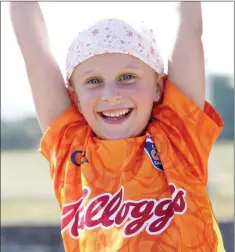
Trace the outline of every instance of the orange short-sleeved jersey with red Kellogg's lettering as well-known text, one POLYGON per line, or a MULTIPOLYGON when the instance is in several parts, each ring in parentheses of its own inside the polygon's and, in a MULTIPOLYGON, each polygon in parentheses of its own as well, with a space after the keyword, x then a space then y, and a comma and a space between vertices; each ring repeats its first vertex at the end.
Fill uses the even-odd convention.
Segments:
POLYGON ((207 195, 223 128, 169 81, 143 136, 102 140, 68 108, 41 141, 67 252, 223 252, 207 195))

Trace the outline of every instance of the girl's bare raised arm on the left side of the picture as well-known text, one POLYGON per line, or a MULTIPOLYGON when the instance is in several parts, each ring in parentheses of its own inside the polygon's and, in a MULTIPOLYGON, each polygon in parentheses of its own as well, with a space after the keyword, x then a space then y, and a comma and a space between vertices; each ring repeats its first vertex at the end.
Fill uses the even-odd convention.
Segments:
POLYGON ((24 58, 41 130, 45 130, 70 100, 63 76, 51 54, 47 28, 37 2, 11 2, 13 29, 24 58))

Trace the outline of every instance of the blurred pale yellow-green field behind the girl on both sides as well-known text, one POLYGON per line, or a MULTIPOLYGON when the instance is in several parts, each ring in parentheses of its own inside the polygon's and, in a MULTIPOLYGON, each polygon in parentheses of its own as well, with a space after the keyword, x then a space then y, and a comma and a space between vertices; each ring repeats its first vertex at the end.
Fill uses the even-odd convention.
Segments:
MULTIPOLYGON (((49 165, 37 150, 6 151, 1 156, 1 221, 10 224, 58 224, 49 165)), ((209 161, 209 187, 218 220, 234 215, 233 142, 218 143, 209 161)))

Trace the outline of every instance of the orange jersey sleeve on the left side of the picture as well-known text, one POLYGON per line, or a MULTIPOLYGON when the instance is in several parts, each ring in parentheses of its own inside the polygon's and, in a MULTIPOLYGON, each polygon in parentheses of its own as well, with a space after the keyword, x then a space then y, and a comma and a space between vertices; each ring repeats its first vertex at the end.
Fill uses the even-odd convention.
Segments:
MULTIPOLYGON (((39 152, 45 156, 50 164, 53 180, 63 178, 63 167, 68 159, 71 145, 76 138, 85 138, 87 128, 84 117, 74 106, 66 109, 46 130, 41 142, 39 152), (84 136, 82 135, 84 133, 84 136)), ((83 139, 80 139, 80 143, 83 139)))

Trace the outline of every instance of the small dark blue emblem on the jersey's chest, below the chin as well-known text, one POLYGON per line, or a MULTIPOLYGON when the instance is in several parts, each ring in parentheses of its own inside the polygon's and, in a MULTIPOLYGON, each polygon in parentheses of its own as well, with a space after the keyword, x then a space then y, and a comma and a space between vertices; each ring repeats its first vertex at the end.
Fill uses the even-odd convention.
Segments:
POLYGON ((159 159, 159 155, 158 155, 156 146, 155 146, 155 144, 149 134, 147 135, 147 138, 146 138, 144 150, 145 150, 146 154, 149 156, 153 166, 160 171, 164 171, 163 166, 162 166, 162 162, 159 159))

